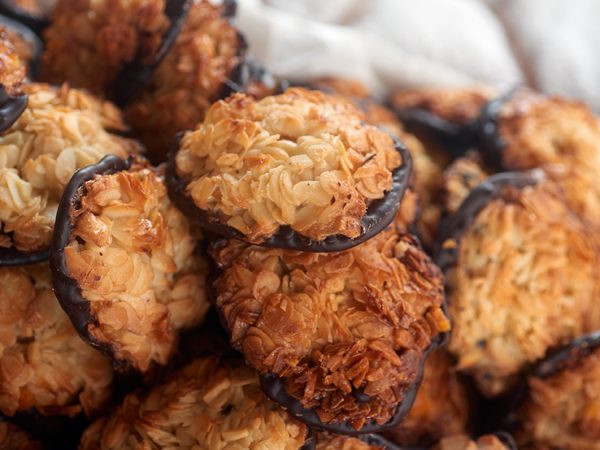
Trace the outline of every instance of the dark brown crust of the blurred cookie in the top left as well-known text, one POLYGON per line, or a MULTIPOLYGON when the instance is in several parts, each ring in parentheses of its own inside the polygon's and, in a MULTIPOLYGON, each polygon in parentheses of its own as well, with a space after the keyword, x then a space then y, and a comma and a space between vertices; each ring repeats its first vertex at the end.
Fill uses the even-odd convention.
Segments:
POLYGON ((149 63, 169 27, 165 0, 59 0, 45 30, 42 79, 106 94, 123 66, 149 63))

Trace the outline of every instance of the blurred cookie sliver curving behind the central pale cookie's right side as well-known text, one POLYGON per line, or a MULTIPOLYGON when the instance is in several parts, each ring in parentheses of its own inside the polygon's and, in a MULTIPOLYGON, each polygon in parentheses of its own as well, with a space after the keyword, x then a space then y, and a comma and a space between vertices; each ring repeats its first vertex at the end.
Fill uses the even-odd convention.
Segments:
MULTIPOLYGON (((350 100, 363 111, 367 123, 384 129, 406 145, 413 160, 411 186, 413 202, 417 207, 415 225, 423 244, 431 247, 441 217, 439 196, 442 187, 442 166, 439 162, 432 158, 428 148, 416 136, 404 129, 391 110, 371 96, 362 83, 340 78, 320 78, 310 80, 306 84, 308 87, 350 100)), ((405 217, 399 219, 401 222, 406 221, 405 217)))

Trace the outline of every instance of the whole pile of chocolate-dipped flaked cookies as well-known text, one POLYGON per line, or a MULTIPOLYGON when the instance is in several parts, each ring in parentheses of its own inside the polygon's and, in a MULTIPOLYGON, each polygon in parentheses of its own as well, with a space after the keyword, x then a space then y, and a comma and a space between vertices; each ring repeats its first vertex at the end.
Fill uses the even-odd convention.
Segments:
POLYGON ((0 448, 600 449, 600 121, 279 80, 235 4, 5 1, 0 448))

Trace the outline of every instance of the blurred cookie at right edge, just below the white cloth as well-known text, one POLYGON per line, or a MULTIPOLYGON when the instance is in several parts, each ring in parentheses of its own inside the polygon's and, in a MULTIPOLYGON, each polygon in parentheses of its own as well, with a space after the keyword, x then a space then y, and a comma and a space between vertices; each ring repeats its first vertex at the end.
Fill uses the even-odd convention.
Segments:
POLYGON ((528 90, 486 108, 483 155, 503 170, 544 169, 570 208, 600 227, 600 120, 581 102, 528 90))

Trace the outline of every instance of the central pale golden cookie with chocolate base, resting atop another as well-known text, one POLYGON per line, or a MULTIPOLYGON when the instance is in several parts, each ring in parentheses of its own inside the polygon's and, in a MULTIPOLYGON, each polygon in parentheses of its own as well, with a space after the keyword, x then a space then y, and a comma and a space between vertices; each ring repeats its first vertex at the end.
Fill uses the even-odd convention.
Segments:
POLYGON ((408 151, 365 125, 352 104, 291 88, 215 103, 171 154, 169 195, 227 237, 340 251, 393 220, 411 172, 408 151))

